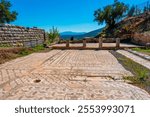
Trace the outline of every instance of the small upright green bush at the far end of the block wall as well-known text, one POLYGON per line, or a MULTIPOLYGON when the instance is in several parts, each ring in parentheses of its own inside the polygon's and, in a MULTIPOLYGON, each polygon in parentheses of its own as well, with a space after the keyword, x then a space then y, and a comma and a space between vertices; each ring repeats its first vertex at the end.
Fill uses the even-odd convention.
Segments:
POLYGON ((49 32, 49 41, 50 42, 54 42, 56 41, 56 39, 59 38, 59 31, 57 28, 55 27, 52 27, 52 29, 50 29, 50 32, 49 32))

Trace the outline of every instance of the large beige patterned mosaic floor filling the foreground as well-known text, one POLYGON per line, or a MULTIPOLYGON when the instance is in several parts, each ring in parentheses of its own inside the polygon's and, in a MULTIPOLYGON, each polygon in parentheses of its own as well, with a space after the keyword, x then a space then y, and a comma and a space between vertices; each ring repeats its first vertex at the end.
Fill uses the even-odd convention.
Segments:
POLYGON ((0 99, 150 99, 107 50, 52 50, 0 65, 0 99))

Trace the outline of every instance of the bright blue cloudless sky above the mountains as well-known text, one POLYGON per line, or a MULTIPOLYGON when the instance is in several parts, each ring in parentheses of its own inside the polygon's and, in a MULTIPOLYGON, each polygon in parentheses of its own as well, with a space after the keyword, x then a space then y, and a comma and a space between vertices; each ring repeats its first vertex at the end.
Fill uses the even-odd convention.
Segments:
MULTIPOLYGON (((52 26, 63 31, 88 32, 101 28, 94 22, 96 9, 112 4, 114 0, 10 0, 19 15, 12 24, 39 27, 52 26)), ((146 0, 120 0, 126 4, 140 4, 146 0)))

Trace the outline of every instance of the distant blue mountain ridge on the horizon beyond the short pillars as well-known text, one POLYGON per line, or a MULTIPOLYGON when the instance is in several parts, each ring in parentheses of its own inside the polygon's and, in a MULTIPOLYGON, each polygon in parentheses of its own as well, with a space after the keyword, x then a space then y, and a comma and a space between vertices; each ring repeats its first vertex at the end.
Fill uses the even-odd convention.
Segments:
POLYGON ((88 33, 84 33, 84 32, 81 32, 81 33, 75 33, 75 32, 63 32, 61 33, 61 38, 62 39, 70 39, 72 36, 75 38, 75 39, 83 39, 84 37, 95 37, 97 36, 101 31, 103 30, 103 28, 100 28, 100 29, 97 29, 97 30, 94 30, 94 31, 91 31, 91 32, 88 32, 88 33))

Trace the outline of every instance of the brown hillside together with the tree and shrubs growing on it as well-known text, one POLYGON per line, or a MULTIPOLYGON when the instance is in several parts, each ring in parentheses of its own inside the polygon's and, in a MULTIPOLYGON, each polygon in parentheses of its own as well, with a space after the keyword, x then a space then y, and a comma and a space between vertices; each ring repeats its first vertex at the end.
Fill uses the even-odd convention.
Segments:
POLYGON ((106 23, 104 30, 96 37, 129 38, 135 32, 150 31, 149 7, 127 6, 115 0, 113 5, 108 5, 103 10, 95 11, 95 21, 99 24, 106 23))

